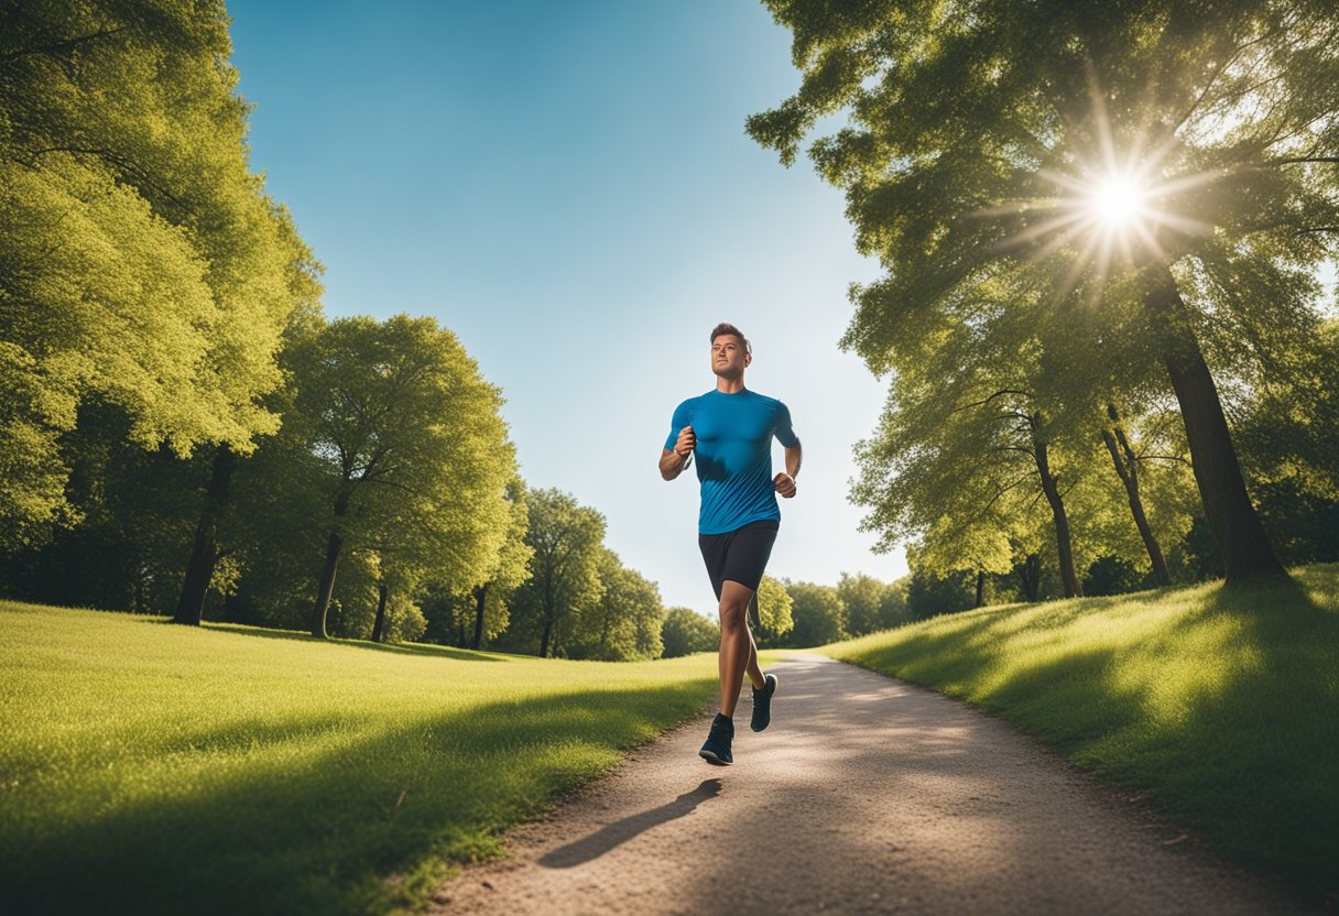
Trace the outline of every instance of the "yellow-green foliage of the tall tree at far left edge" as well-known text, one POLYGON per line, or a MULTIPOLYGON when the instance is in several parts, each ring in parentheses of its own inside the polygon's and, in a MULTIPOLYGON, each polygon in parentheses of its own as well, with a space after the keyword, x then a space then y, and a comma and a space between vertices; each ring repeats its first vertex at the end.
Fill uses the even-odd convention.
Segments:
POLYGON ((0 28, 0 529, 72 520, 79 404, 185 457, 272 433, 261 403, 319 269, 248 165, 221 3, 21 4, 0 28), (300 264, 301 266, 295 266, 300 264))

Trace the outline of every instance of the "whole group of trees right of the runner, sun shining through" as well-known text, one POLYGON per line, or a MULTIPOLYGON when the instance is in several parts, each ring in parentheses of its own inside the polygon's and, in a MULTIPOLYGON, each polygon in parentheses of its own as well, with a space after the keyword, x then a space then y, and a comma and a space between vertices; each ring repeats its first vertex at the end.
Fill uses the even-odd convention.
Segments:
POLYGON ((1322 3, 765 0, 884 276, 853 498, 947 605, 1339 558, 1339 24, 1322 3), (1111 183, 1123 222, 1094 189, 1111 183), (969 597, 968 597, 969 596, 969 597))

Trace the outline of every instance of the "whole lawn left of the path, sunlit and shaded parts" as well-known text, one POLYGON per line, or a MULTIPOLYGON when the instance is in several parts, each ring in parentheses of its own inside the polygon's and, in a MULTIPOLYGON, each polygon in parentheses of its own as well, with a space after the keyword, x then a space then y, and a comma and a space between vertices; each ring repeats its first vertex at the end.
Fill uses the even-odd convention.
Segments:
POLYGON ((0 603, 0 909, 363 913, 714 698, 641 664, 0 603))

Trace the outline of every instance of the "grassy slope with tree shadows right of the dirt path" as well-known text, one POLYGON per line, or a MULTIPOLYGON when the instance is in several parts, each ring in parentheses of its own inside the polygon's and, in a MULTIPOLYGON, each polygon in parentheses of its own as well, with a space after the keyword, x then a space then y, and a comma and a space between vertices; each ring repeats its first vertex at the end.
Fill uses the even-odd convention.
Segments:
POLYGON ((1339 891, 1339 565, 991 607, 825 651, 998 712, 1229 856, 1339 891))

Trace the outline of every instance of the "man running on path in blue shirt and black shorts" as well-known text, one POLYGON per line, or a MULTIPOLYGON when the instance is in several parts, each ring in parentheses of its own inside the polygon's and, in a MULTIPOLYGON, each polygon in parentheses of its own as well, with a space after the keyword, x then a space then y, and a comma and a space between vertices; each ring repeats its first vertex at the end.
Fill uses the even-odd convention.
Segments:
POLYGON ((698 753, 719 766, 734 763, 730 743, 746 672, 754 696, 750 727, 762 731, 771 722, 777 676, 763 676, 758 667, 747 611, 781 525, 775 494, 787 500, 795 495, 801 458, 786 404, 744 387, 744 368, 751 362, 753 348, 739 328, 718 324, 711 332, 716 387, 675 408, 660 455, 660 477, 667 481, 679 477, 694 454, 698 457, 702 485, 698 546, 720 603, 720 712, 698 753), (786 449, 786 471, 775 477, 773 437, 786 449))

